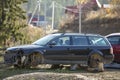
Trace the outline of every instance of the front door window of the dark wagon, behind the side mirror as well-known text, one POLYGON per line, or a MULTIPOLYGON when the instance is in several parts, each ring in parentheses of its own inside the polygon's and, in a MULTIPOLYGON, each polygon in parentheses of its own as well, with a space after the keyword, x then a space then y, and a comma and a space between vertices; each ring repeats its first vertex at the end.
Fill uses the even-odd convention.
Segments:
POLYGON ((60 37, 60 38, 57 38, 55 39, 54 41, 52 41, 56 44, 56 46, 67 46, 67 45, 70 45, 70 37, 60 37))

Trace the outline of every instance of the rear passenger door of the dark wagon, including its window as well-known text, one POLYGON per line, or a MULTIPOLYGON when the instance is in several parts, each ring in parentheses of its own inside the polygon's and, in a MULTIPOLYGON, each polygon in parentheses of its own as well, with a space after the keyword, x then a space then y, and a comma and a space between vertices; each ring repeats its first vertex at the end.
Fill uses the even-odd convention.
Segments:
POLYGON ((88 40, 86 36, 73 36, 70 54, 74 61, 85 61, 89 53, 88 40))

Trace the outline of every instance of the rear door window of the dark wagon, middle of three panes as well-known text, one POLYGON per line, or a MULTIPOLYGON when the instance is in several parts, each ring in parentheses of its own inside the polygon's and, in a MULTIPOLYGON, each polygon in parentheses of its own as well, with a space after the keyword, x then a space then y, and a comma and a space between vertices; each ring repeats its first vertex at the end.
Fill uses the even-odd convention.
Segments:
POLYGON ((73 45, 88 45, 86 36, 74 36, 73 45))

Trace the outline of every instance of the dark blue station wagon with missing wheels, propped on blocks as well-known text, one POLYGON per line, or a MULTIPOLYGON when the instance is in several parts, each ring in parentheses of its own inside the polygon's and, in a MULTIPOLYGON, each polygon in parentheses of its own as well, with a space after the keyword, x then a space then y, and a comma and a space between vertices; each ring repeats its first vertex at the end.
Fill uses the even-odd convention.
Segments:
POLYGON ((85 64, 104 71, 103 65, 112 60, 112 47, 106 38, 80 33, 49 34, 30 45, 10 47, 4 56, 5 64, 17 68, 39 64, 85 64))

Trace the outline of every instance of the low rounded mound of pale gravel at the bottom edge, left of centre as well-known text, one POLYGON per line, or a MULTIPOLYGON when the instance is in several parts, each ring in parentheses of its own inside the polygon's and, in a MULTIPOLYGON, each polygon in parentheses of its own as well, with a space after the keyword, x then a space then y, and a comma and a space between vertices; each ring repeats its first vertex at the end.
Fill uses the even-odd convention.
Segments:
POLYGON ((89 80, 87 77, 75 74, 37 72, 15 75, 3 80, 89 80))

